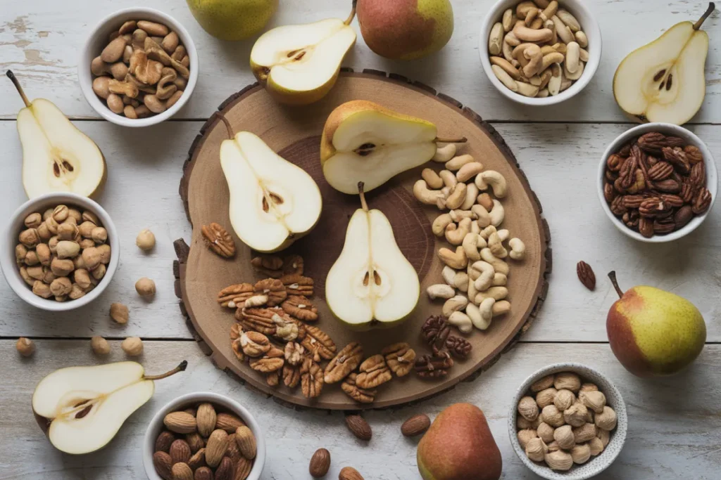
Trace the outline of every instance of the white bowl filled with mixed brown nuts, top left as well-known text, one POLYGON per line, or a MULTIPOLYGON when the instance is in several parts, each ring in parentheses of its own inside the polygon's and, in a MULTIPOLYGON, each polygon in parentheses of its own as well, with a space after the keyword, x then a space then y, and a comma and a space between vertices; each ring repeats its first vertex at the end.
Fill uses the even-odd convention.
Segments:
POLYGON ((89 35, 80 86, 102 117, 145 127, 172 117, 198 81, 198 53, 184 27, 154 9, 120 10, 89 35))

